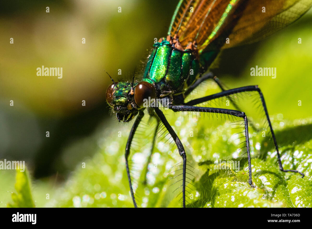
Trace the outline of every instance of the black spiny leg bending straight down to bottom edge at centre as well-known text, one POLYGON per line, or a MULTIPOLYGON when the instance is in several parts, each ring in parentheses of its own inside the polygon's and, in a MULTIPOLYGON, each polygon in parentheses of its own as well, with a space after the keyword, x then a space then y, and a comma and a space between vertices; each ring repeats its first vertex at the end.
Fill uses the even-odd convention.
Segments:
POLYGON ((183 182, 182 182, 182 197, 183 197, 183 208, 185 208, 185 178, 186 178, 186 154, 185 154, 185 150, 184 147, 180 141, 180 139, 178 138, 177 134, 174 132, 174 130, 172 129, 172 127, 170 126, 170 124, 168 123, 167 119, 165 118, 165 116, 163 115, 163 112, 161 110, 159 110, 158 107, 155 107, 155 112, 158 115, 158 117, 160 118, 161 122, 163 122, 163 125, 167 128, 168 132, 170 133, 171 137, 173 138, 175 144, 178 147, 179 150, 179 154, 180 156, 183 158, 183 182))

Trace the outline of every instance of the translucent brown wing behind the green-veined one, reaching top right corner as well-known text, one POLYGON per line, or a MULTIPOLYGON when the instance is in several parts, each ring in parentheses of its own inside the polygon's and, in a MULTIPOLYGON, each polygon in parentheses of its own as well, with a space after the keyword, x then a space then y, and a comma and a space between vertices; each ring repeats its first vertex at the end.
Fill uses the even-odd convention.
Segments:
POLYGON ((237 9, 241 16, 229 35, 230 43, 222 49, 260 41, 297 20, 311 6, 312 0, 249 0, 237 9))

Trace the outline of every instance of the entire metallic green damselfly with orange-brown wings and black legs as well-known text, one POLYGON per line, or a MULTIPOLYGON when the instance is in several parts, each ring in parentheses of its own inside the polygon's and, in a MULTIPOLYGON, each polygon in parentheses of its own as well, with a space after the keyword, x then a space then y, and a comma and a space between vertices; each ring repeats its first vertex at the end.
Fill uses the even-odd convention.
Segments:
POLYGON ((297 20, 310 9, 311 5, 312 0, 180 0, 178 2, 168 34, 154 44, 141 79, 134 80, 133 77, 132 82, 114 82, 112 79, 113 83, 106 91, 106 100, 116 113, 119 122, 129 122, 136 117, 125 150, 126 170, 134 207, 137 207, 137 204, 129 172, 128 157, 134 133, 144 116, 144 111, 147 111, 146 113, 151 117, 157 118, 158 127, 162 124, 168 130, 182 157, 181 186, 183 207, 185 207, 187 155, 178 135, 158 108, 158 103, 174 112, 221 114, 243 119, 242 128, 246 140, 249 168, 248 183, 253 186, 248 119, 245 112, 239 110, 235 101, 233 103, 237 110, 196 105, 216 98, 231 98, 234 94, 254 91, 261 99, 280 170, 304 176, 297 170, 283 169, 277 141, 260 88, 246 86, 226 90, 219 79, 208 72, 208 69, 221 50, 259 41, 297 20), (207 79, 215 81, 222 92, 185 102, 185 98, 207 79), (150 101, 153 102, 150 103, 150 101))

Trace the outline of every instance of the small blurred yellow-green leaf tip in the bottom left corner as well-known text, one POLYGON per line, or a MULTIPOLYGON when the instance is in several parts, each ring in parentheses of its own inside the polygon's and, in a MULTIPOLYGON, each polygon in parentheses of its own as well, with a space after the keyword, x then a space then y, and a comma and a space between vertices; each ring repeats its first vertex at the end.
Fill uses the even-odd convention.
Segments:
POLYGON ((35 204, 32 199, 31 193, 31 181, 28 176, 28 171, 16 169, 16 193, 12 193, 13 203, 8 203, 7 206, 10 208, 34 208, 35 204))

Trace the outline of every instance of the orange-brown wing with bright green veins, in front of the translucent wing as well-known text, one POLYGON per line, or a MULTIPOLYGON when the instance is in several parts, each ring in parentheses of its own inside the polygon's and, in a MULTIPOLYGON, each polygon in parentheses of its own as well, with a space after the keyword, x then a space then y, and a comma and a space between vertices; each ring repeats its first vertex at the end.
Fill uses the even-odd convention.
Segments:
POLYGON ((182 47, 196 40, 198 50, 222 32, 230 16, 243 0, 181 0, 176 8, 168 35, 178 35, 182 47))

